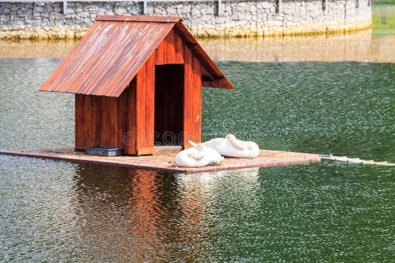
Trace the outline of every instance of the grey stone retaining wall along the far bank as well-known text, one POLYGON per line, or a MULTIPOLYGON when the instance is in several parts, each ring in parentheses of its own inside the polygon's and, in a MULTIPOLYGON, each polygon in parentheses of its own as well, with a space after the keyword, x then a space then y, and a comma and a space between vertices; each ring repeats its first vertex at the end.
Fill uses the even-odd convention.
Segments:
MULTIPOLYGON (((371 26, 370 0, 148 2, 149 16, 181 16, 197 36, 268 36, 371 26), (358 6, 359 3, 359 6, 358 6)), ((0 38, 79 38, 98 15, 142 15, 143 2, 0 2, 0 38)))

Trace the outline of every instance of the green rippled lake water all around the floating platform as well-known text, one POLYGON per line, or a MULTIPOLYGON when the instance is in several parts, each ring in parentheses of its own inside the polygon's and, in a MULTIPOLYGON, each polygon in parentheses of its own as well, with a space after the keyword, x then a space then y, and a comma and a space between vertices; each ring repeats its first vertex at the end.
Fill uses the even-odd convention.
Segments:
MULTIPOLYGON (((59 59, 0 60, 0 148, 74 143, 59 59)), ((395 162, 395 64, 239 63, 203 139, 395 162)), ((392 261, 395 170, 323 162, 169 174, 0 155, 0 261, 392 261)))

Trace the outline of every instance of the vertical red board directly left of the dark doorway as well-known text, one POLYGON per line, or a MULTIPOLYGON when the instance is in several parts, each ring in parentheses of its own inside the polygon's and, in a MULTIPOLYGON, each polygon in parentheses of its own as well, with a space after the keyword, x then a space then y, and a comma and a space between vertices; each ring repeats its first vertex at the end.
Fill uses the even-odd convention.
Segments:
POLYGON ((154 147, 154 121, 155 121, 155 54, 146 62, 145 87, 145 147, 154 147))

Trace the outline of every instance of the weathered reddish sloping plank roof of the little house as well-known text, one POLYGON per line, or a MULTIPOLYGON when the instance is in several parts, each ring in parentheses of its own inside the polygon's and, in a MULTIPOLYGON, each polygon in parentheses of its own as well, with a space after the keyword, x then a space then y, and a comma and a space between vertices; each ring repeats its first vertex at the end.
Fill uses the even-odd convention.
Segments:
POLYGON ((119 97, 174 28, 202 65, 202 85, 233 89, 180 17, 99 16, 40 91, 119 97))

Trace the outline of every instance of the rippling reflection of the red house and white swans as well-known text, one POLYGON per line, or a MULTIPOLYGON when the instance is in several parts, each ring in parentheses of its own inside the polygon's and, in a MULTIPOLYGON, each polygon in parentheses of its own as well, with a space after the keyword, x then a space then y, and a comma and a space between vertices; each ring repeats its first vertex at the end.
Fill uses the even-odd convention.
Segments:
POLYGON ((227 216, 212 211, 224 211, 230 187, 257 182, 258 169, 237 173, 181 175, 78 164, 74 203, 81 243, 92 258, 108 261, 208 259, 214 237, 206 226, 227 216))

